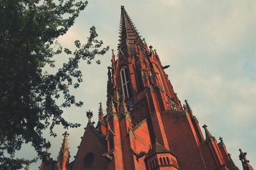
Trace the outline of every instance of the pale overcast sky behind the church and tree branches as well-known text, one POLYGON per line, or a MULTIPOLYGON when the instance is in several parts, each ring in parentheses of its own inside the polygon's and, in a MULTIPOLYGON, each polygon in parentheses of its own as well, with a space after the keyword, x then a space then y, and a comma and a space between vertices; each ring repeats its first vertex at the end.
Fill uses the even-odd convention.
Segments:
MULTIPOLYGON (((75 25, 59 39, 63 46, 74 48, 76 39, 86 41, 89 28, 97 27, 99 39, 115 50, 118 44, 120 6, 124 5, 140 35, 156 48, 180 101, 188 99, 200 125, 216 139, 220 136, 236 165, 241 148, 256 168, 256 1, 89 1, 75 25)), ((73 94, 84 101, 83 108, 69 108, 64 117, 79 122, 81 128, 68 130, 72 158, 93 110, 97 121, 99 102, 106 110, 107 66, 111 52, 99 57, 102 64, 81 62, 84 81, 73 94)), ((67 56, 56 57, 57 66, 67 56)), ((50 152, 56 159, 65 130, 56 128, 57 138, 44 136, 52 143, 50 152)), ((171 148, 172 149, 172 148, 171 148)), ((31 146, 18 156, 35 157, 31 146)), ((32 164, 31 169, 37 169, 32 164)))

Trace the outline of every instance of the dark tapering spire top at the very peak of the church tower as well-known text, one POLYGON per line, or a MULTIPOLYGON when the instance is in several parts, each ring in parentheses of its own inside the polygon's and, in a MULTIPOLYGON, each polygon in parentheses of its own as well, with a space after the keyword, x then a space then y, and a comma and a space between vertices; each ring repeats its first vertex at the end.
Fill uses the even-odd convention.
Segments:
POLYGON ((124 6, 121 6, 120 39, 118 48, 119 50, 122 50, 125 56, 127 56, 127 48, 134 48, 136 43, 140 45, 143 51, 147 50, 127 11, 125 11, 124 6))

